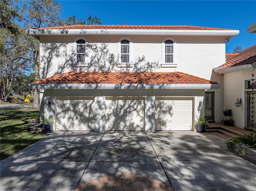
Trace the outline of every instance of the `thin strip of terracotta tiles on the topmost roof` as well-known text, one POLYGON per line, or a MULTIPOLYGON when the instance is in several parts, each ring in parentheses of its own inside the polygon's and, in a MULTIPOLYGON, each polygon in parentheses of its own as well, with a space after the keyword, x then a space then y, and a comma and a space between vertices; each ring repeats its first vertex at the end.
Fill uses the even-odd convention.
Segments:
POLYGON ((189 26, 189 25, 68 25, 68 26, 55 26, 38 28, 44 30, 89 30, 89 29, 143 29, 143 30, 231 30, 224 28, 212 28, 212 27, 200 27, 200 26, 189 26))

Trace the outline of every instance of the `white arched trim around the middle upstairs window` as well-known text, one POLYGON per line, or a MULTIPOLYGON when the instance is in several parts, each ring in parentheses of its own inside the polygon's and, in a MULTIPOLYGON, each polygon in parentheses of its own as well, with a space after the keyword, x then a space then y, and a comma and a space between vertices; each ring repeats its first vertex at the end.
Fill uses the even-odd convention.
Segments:
POLYGON ((133 62, 132 62, 132 39, 130 39, 129 37, 121 37, 120 39, 118 39, 118 65, 117 66, 118 67, 133 67, 133 62), (129 41, 129 44, 124 45, 124 46, 126 46, 126 52, 125 53, 122 52, 122 45, 121 45, 122 40, 128 40, 129 41), (128 58, 126 58, 126 60, 128 60, 127 62, 122 62, 122 55, 125 55, 125 56, 128 55, 128 58))

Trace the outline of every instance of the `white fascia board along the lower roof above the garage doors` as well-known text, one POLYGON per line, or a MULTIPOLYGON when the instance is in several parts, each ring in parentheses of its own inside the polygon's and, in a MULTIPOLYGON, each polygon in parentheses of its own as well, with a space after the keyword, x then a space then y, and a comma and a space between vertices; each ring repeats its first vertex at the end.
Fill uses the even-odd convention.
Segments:
POLYGON ((219 84, 29 84, 31 89, 218 89, 219 84))

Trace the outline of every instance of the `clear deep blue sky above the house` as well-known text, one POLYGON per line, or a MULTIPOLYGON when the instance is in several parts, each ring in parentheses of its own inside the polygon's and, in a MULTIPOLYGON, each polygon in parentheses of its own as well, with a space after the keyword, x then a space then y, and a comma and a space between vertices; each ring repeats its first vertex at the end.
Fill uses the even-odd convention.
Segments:
POLYGON ((256 0, 215 1, 125 1, 125 0, 57 0, 62 6, 62 17, 89 14, 101 19, 102 24, 130 25, 193 25, 239 30, 226 43, 226 52, 236 46, 246 49, 256 44, 256 34, 247 27, 256 22, 256 0))

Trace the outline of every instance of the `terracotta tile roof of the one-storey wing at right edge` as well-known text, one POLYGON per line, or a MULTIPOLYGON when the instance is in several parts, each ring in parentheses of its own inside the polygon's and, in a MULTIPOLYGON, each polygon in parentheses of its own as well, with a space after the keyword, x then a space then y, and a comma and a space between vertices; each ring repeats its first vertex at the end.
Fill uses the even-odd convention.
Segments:
POLYGON ((221 65, 221 69, 245 64, 252 64, 254 62, 256 62, 256 45, 244 49, 236 55, 230 56, 230 59, 228 59, 225 64, 221 65))

